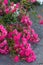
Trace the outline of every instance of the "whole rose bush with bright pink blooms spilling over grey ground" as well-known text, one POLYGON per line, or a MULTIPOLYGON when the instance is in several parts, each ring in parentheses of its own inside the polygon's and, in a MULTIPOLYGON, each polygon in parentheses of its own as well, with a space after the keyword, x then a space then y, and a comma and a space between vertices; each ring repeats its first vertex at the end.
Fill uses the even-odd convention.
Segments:
MULTIPOLYGON (((31 0, 31 3, 34 2, 36 0, 31 0)), ((31 43, 36 44, 40 39, 31 27, 33 23, 30 17, 26 13, 22 13, 24 7, 20 3, 14 4, 14 2, 8 5, 8 0, 0 1, 0 3, 0 16, 4 22, 4 24, 0 23, 0 53, 12 54, 15 62, 20 60, 35 61, 36 55, 31 43)))

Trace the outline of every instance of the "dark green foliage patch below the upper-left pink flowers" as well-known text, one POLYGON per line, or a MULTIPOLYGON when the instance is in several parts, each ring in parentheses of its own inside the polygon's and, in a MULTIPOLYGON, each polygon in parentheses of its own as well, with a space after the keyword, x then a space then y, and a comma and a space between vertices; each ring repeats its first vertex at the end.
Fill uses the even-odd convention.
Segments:
POLYGON ((6 24, 6 23, 11 23, 11 22, 13 22, 13 23, 16 22, 17 17, 13 16, 13 15, 12 14, 7 14, 7 15, 2 16, 2 19, 3 19, 4 23, 6 24))

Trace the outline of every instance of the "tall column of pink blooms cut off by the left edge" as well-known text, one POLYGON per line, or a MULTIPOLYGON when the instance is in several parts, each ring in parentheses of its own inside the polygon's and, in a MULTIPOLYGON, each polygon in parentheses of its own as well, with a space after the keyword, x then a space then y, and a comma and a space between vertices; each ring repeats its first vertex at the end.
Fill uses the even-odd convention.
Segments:
POLYGON ((8 44, 7 40, 5 40, 7 36, 7 30, 3 25, 0 25, 0 53, 7 54, 8 53, 8 44))

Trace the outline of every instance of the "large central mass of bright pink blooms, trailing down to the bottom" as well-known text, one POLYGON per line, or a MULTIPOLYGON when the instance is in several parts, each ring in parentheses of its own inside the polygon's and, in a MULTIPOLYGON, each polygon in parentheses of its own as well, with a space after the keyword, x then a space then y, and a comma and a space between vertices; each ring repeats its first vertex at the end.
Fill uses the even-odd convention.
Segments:
POLYGON ((32 24, 28 16, 23 16, 21 23, 24 24, 22 31, 14 29, 8 34, 8 38, 11 40, 13 39, 14 41, 13 48, 17 54, 14 57, 14 61, 18 62, 21 59, 27 62, 33 62, 36 60, 36 55, 32 50, 29 41, 37 43, 39 41, 39 37, 38 34, 35 33, 34 29, 31 28, 32 24))

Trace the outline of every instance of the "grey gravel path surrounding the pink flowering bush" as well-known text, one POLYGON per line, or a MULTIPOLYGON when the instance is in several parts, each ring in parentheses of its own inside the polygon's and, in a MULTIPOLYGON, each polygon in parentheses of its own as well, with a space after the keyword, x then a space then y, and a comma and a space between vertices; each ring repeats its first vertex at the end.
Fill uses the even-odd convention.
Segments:
MULTIPOLYGON (((38 12, 38 14, 41 14, 43 16, 43 5, 38 6, 35 8, 35 10, 38 12)), ((31 19, 35 22, 36 19, 31 16, 31 19)), ((14 63, 12 59, 9 57, 9 55, 0 55, 0 65, 43 65, 43 26, 34 23, 32 26, 35 31, 39 34, 40 42, 38 45, 34 46, 34 51, 37 55, 37 59, 33 63, 27 63, 25 61, 14 63)))

